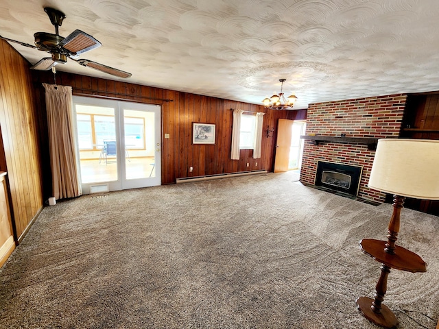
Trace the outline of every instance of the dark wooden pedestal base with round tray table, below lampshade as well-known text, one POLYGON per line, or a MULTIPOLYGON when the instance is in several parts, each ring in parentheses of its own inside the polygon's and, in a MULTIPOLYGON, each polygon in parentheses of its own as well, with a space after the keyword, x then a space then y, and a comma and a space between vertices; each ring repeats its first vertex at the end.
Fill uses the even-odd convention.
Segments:
POLYGON ((390 269, 399 269, 412 273, 427 271, 427 263, 414 252, 403 247, 396 247, 399 232, 399 214, 403 208, 405 197, 394 196, 393 215, 388 227, 388 241, 363 239, 359 245, 361 250, 381 263, 381 276, 375 287, 375 300, 369 297, 359 297, 357 306, 361 313, 374 324, 384 328, 394 328, 398 320, 387 306, 381 304, 387 291, 387 278, 390 269))

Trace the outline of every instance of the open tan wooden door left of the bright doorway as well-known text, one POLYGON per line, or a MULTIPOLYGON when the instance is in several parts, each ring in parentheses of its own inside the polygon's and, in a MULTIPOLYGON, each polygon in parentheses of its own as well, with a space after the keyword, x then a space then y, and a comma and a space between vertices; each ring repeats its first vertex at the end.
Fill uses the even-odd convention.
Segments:
POLYGON ((279 119, 276 137, 276 156, 274 158, 274 172, 288 171, 289 147, 291 147, 292 120, 279 119))

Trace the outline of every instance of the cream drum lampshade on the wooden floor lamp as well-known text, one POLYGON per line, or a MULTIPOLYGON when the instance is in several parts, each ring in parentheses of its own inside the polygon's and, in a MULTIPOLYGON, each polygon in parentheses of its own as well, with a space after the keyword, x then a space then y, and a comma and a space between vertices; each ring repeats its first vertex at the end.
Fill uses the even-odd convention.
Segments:
POLYGON ((368 186, 413 197, 439 199, 439 141, 379 139, 368 186))

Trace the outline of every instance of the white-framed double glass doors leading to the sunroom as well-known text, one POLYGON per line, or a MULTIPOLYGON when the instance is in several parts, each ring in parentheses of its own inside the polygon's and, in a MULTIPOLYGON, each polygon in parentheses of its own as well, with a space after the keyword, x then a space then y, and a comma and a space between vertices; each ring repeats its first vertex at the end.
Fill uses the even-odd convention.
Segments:
POLYGON ((84 193, 161 184, 161 107, 73 97, 84 193))

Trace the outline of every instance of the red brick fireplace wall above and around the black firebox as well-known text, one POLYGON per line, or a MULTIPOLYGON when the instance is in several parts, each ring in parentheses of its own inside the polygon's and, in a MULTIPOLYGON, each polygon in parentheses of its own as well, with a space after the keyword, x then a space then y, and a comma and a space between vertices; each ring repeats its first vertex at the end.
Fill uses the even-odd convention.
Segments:
MULTIPOLYGON (((407 96, 403 94, 309 104, 306 134, 386 138, 399 136, 407 96)), ((383 202, 385 193, 367 187, 375 151, 359 143, 305 141, 300 181, 314 184, 318 160, 363 166, 359 197, 383 202)))

